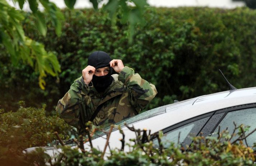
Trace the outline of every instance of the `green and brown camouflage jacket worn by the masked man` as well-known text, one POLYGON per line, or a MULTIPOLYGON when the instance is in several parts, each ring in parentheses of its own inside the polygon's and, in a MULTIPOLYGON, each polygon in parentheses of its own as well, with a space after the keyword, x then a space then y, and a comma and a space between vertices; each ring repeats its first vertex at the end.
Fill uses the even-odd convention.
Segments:
POLYGON ((112 77, 112 84, 102 96, 93 85, 87 86, 82 77, 76 79, 57 104, 60 117, 82 134, 84 124, 102 103, 93 121, 98 126, 113 124, 138 114, 157 94, 153 84, 129 67, 124 67, 119 75, 113 74, 112 77))

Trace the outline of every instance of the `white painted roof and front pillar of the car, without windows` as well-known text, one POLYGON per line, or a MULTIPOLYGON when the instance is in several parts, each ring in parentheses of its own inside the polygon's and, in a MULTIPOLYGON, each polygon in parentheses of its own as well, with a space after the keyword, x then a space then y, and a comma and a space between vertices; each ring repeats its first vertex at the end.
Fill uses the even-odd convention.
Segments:
MULTIPOLYGON (((129 126, 141 130, 146 128, 147 130, 150 130, 151 133, 154 133, 192 117, 250 103, 256 103, 256 87, 204 95, 169 104, 166 107, 162 106, 162 108, 165 108, 165 113, 133 122, 129 124, 129 126)), ((129 141, 130 138, 136 137, 135 133, 130 131, 127 127, 123 127, 122 130, 125 133, 125 141, 129 141)), ((122 138, 122 135, 119 131, 112 132, 110 137, 110 147, 121 147, 121 142, 118 141, 120 138, 122 138)), ((102 146, 104 147, 105 143, 106 136, 93 140, 93 144, 97 145, 99 149, 101 149, 102 146)))

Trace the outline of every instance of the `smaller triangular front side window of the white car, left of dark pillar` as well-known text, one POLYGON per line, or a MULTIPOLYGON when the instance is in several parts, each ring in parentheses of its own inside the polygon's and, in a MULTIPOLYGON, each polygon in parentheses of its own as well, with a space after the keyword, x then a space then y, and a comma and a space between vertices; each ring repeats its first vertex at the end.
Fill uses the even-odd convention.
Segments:
MULTIPOLYGON (((183 146, 189 145, 192 142, 191 137, 194 137, 199 133, 199 131, 204 126, 204 124, 208 121, 209 118, 210 117, 205 117, 164 133, 164 136, 162 137, 163 147, 167 148, 168 146, 171 145, 171 142, 177 143, 179 133, 180 133, 179 142, 182 143, 183 146)), ((153 143, 157 147, 159 147, 157 138, 154 138, 153 143)))

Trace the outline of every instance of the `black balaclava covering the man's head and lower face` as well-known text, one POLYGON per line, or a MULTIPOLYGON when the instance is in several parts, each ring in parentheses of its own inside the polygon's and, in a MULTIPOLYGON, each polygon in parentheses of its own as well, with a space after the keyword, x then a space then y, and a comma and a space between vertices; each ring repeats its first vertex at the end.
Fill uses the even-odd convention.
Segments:
POLYGON ((110 71, 107 75, 93 75, 92 77, 93 86, 99 93, 104 92, 107 89, 107 87, 110 86, 110 84, 113 82, 113 77, 111 77, 112 68, 110 67, 110 61, 110 56, 103 51, 93 52, 88 57, 88 65, 93 66, 96 69, 103 67, 110 68, 110 71))

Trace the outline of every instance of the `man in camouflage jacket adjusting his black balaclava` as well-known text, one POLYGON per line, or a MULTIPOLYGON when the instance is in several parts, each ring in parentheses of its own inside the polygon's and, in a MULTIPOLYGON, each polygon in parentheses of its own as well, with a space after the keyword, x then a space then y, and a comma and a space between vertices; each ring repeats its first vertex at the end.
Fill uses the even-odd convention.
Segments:
POLYGON ((95 125, 107 126, 138 114, 157 94, 153 84, 142 79, 133 69, 124 67, 122 60, 111 60, 105 52, 92 53, 82 75, 56 107, 60 117, 76 127, 80 134, 84 133, 85 123, 89 120, 95 125), (110 75, 112 68, 119 74, 110 75), (101 85, 102 80, 94 77, 107 77, 103 80, 110 83, 101 89, 97 83, 101 85), (97 107, 99 112, 91 119, 97 107))

